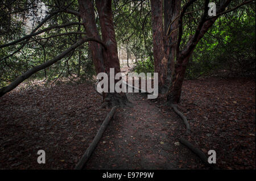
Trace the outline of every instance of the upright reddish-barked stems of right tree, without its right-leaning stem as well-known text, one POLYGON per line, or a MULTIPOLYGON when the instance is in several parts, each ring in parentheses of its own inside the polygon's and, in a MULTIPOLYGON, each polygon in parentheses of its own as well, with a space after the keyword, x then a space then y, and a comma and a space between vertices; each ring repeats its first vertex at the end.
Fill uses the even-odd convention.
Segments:
POLYGON ((164 26, 162 6, 160 0, 151 1, 154 65, 155 72, 159 73, 160 92, 164 93, 168 90, 174 75, 177 17, 180 14, 181 0, 164 0, 164 26))

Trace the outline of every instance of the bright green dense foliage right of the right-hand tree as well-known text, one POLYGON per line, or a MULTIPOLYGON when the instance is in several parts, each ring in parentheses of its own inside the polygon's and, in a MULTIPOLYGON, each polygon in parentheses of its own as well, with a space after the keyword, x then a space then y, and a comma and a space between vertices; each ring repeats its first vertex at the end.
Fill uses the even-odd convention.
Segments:
POLYGON ((219 18, 197 44, 187 78, 255 75, 255 6, 219 18))

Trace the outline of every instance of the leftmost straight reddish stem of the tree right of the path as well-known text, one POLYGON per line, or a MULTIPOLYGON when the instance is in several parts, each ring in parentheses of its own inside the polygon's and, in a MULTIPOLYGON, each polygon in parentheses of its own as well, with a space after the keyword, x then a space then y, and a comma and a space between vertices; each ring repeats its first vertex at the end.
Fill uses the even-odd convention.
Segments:
POLYGON ((151 19, 153 35, 154 72, 158 73, 158 89, 162 90, 167 78, 167 54, 164 51, 163 2, 151 0, 151 19))

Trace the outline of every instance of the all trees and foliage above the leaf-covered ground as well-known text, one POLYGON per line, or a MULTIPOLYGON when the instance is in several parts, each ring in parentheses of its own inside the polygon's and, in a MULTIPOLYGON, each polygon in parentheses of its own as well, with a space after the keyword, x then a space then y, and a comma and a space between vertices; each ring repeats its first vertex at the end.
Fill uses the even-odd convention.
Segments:
POLYGON ((118 47, 136 58, 135 71, 159 72, 174 103, 186 77, 255 74, 253 1, 214 2, 215 17, 209 1, 3 1, 1 95, 30 76, 53 83, 118 72, 118 47))

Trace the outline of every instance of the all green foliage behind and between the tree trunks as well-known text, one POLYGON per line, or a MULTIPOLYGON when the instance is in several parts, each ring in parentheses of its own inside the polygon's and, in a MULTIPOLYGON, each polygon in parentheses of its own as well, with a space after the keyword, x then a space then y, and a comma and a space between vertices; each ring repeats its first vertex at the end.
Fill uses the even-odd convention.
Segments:
MULTIPOLYGON (((184 5, 185 1, 183 2, 184 5)), ((191 14, 184 16, 184 33, 181 47, 195 31, 193 21, 200 17, 201 1, 195 3, 191 14)), ((76 1, 3 1, 0 5, 0 44, 6 44, 28 35, 34 30, 73 23, 64 27, 51 28, 0 49, 0 86, 6 86, 24 71, 57 56, 74 44, 84 32, 81 19, 61 12, 62 7, 77 10, 76 1), (42 8, 42 2, 44 6, 42 8), (40 7, 41 6, 41 7, 40 7), (55 15, 56 11, 60 11, 55 15), (39 23, 52 15, 42 27, 39 23), (76 22, 76 23, 75 23, 76 22), (79 23, 80 22, 80 23, 79 23), (68 33, 68 35, 60 36, 68 33), (72 32, 80 32, 72 33, 72 32)), ((233 6, 236 3, 233 2, 233 6)), ((113 1, 113 20, 118 49, 133 54, 136 59, 134 71, 153 72, 152 32, 150 1, 113 1)), ((99 24, 98 15, 96 22, 99 24)), ((194 23, 196 24, 196 23, 194 23)), ((100 27, 100 26, 98 26, 100 27)), ((88 43, 77 48, 62 61, 39 71, 32 77, 53 83, 60 78, 80 80, 92 79, 95 74, 88 43)), ((218 18, 214 26, 197 44, 187 68, 187 78, 201 75, 255 75, 255 5, 242 6, 218 18)))

